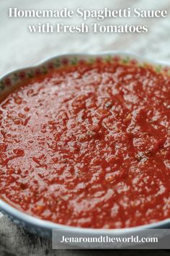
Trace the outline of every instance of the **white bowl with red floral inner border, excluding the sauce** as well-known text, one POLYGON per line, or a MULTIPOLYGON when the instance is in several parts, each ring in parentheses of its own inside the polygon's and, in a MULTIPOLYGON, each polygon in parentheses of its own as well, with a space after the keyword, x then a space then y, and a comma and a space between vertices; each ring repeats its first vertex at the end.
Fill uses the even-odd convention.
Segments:
MULTIPOLYGON (((10 93, 11 90, 14 90, 19 85, 19 82, 22 82, 27 77, 35 77, 40 73, 47 73, 51 69, 58 69, 59 67, 66 66, 68 64, 75 65, 79 61, 99 61, 104 59, 104 61, 120 61, 125 64, 132 65, 148 65, 153 67, 156 72, 161 72, 165 74, 170 74, 170 66, 165 62, 151 61, 149 59, 143 59, 143 57, 121 53, 121 52, 109 52, 102 54, 65 54, 55 56, 48 60, 42 61, 40 64, 37 64, 33 67, 28 67, 24 69, 15 70, 9 74, 4 75, 0 79, 0 98, 4 97, 6 93, 10 93)), ((125 229, 84 229, 73 226, 61 225, 58 223, 53 223, 50 221, 44 221, 40 218, 35 218, 30 216, 17 208, 14 208, 12 205, 4 202, 0 199, 0 210, 6 216, 8 216, 14 223, 19 226, 22 226, 32 233, 38 234, 40 236, 45 236, 51 238, 52 230, 64 230, 67 234, 77 234, 81 235, 122 235, 122 234, 138 234, 138 232, 145 229, 169 229, 170 228, 170 218, 164 221, 158 221, 156 223, 146 224, 143 226, 135 226, 132 228, 125 229)))

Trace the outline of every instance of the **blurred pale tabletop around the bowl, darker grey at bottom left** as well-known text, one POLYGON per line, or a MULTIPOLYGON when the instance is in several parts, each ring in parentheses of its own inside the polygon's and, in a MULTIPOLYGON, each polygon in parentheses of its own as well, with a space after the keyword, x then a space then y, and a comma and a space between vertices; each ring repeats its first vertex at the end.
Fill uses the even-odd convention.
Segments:
MULTIPOLYGON (((9 18, 9 7, 17 7, 18 9, 62 9, 68 7, 76 9, 77 7, 102 9, 108 7, 110 9, 124 9, 135 7, 141 9, 166 9, 170 12, 169 0, 1 0, 0 2, 0 31, 1 31, 1 62, 0 75, 11 70, 27 67, 49 56, 57 54, 85 52, 97 53, 99 51, 128 51, 134 54, 140 54, 146 58, 157 59, 161 61, 170 60, 170 17, 156 18, 118 18, 107 19, 102 24, 132 24, 132 25, 148 25, 149 32, 145 34, 32 34, 27 26, 37 24, 38 22, 50 22, 55 25, 56 22, 69 24, 71 22, 79 24, 81 20, 73 19, 29 19, 29 18, 9 18)), ((87 20, 87 24, 97 22, 97 20, 87 20)), ((152 251, 153 252, 153 251, 152 251)), ((84 250, 51 250, 51 243, 39 236, 29 234, 24 229, 15 226, 5 216, 0 213, 0 255, 86 255, 89 251, 84 250)), ((96 252, 102 255, 102 251, 96 252)), ((105 253, 105 252, 104 252, 105 253)), ((118 251, 118 255, 122 255, 122 251, 118 251)), ((143 253, 143 251, 131 252, 130 255, 143 253)), ((154 255, 168 255, 169 252, 156 251, 154 255)), ((111 251, 107 251, 108 255, 112 255, 111 251)), ((146 255, 150 254, 145 252, 146 255)))

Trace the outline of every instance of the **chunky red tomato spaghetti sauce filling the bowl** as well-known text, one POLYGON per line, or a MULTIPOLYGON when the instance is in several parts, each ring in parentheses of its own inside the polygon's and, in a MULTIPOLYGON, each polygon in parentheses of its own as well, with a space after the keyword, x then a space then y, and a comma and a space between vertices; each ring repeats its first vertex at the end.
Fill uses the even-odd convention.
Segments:
POLYGON ((170 78, 77 64, 0 104, 0 195, 32 216, 91 228, 170 218, 170 78))

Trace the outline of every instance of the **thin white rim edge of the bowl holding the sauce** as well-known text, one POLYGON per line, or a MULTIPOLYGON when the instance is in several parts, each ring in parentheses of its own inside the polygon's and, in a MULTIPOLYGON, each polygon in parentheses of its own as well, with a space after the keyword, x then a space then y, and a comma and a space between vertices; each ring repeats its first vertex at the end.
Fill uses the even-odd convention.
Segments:
MULTIPOLYGON (((29 69, 35 69, 37 67, 40 67, 44 64, 47 64, 49 61, 53 61, 55 59, 61 59, 61 58, 71 58, 71 57, 104 57, 104 56, 129 56, 130 59, 137 59, 139 61, 145 61, 148 64, 151 65, 161 65, 161 66, 167 66, 170 67, 170 63, 168 61, 153 61, 151 59, 145 58, 143 56, 140 56, 138 54, 133 54, 128 51, 102 51, 99 53, 95 54, 84 54, 84 53, 75 53, 75 54, 57 54, 55 56, 50 56, 48 58, 43 59, 42 61, 37 62, 37 64, 29 66, 29 67, 24 67, 21 69, 14 69, 10 72, 7 72, 6 74, 2 75, 0 77, 0 82, 1 80, 4 80, 4 78, 10 76, 14 72, 22 72, 22 71, 27 71, 29 69)), ((162 221, 157 221, 155 223, 149 223, 141 226, 133 226, 129 228, 122 228, 122 229, 92 229, 92 228, 82 228, 82 227, 77 227, 77 226, 68 226, 68 225, 63 225, 59 223, 54 223, 52 221, 46 221, 41 218, 31 216, 28 213, 24 213, 24 211, 19 210, 17 208, 14 208, 14 206, 10 205, 8 202, 5 202, 0 198, 0 211, 2 210, 3 213, 6 213, 8 216, 12 216, 15 219, 22 221, 24 223, 27 223, 28 225, 32 225, 35 228, 39 229, 63 229, 63 230, 68 230, 71 231, 72 233, 77 233, 80 232, 81 234, 128 234, 131 232, 138 232, 138 231, 143 231, 145 229, 164 229, 164 226, 169 226, 170 225, 170 218, 166 218, 162 221)))

